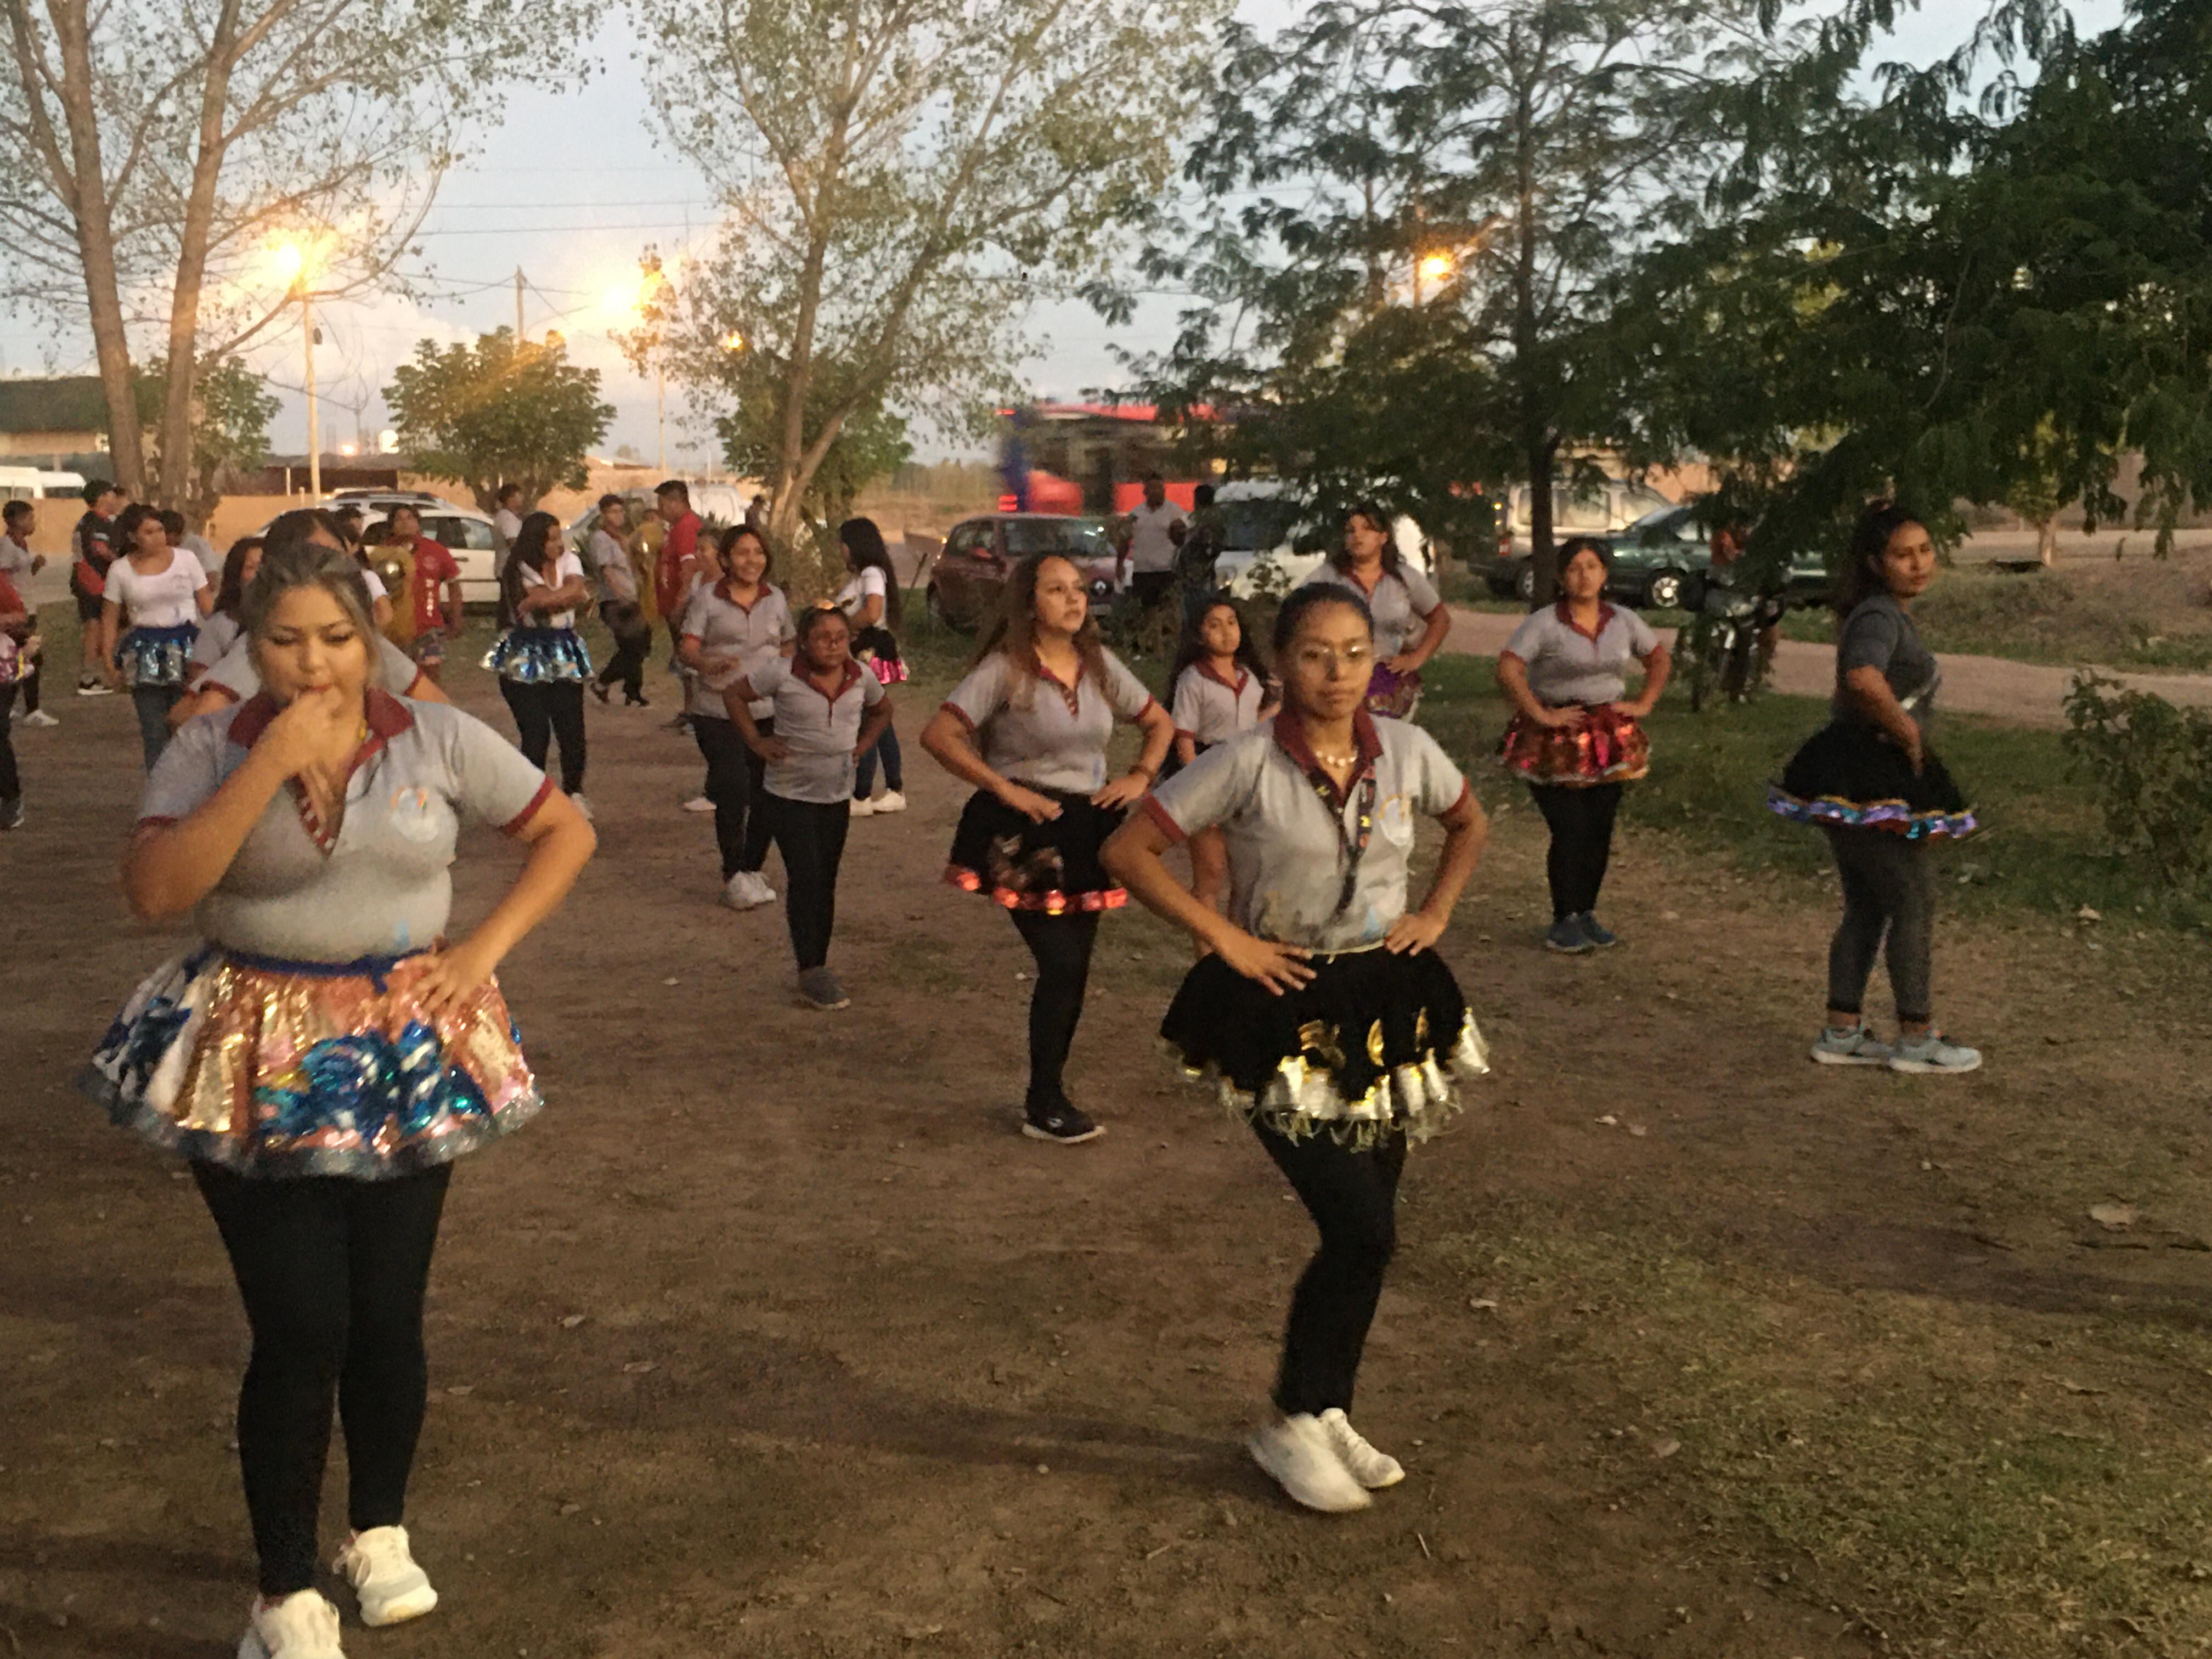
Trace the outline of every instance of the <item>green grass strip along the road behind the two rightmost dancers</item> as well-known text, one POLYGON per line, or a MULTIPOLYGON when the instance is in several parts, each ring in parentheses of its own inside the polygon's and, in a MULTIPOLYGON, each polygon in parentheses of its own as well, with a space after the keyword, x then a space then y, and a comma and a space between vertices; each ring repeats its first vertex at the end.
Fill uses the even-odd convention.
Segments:
MULTIPOLYGON (((1493 672, 1489 657, 1431 661, 1420 710, 1420 723, 1491 803, 1509 787, 1495 761, 1506 703, 1493 672)), ((1721 852, 1743 869, 1825 876, 1825 836, 1774 816, 1765 803, 1767 783, 1825 719, 1827 703, 1814 697, 1765 695, 1705 714, 1668 697, 1646 721, 1652 772, 1628 787, 1621 816, 1721 852)), ((1947 909, 2073 916, 2090 905, 2110 918, 2141 914, 2146 925, 2212 925, 2212 907, 2161 889, 2148 860, 2115 854, 2097 799, 2073 772, 2057 732, 1949 717, 1936 745, 1984 823, 1980 836, 1938 849, 1947 909)))

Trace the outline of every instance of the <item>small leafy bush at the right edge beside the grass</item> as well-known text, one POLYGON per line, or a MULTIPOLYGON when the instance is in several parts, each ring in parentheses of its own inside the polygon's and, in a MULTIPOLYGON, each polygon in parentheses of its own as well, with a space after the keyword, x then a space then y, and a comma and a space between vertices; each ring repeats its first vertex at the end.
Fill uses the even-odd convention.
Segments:
POLYGON ((2066 752, 2121 852, 2148 852, 2161 880, 2203 891, 2212 876, 2212 717, 2081 672, 2066 692, 2066 752))

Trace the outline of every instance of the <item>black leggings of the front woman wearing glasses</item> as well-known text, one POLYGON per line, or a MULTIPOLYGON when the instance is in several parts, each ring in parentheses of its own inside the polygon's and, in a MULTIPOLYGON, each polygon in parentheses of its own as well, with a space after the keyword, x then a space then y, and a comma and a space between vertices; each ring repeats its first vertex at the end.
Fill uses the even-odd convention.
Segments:
POLYGON ((1290 1296, 1274 1402, 1285 1416, 1349 1411, 1383 1272, 1398 1248, 1405 1135, 1352 1150, 1327 1130, 1292 1139, 1265 1124, 1254 1128, 1321 1230, 1321 1250, 1290 1296))

